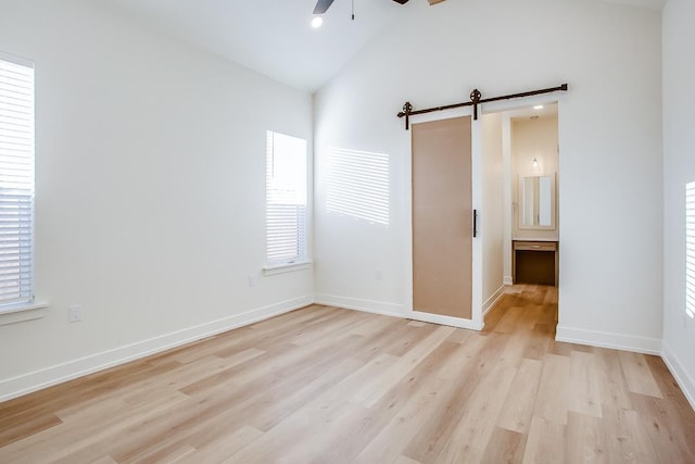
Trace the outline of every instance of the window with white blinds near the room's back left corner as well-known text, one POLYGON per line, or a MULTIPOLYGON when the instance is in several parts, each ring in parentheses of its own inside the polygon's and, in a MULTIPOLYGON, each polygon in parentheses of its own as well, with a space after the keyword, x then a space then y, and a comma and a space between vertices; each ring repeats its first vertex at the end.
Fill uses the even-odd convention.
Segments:
POLYGON ((266 152, 266 262, 306 260, 306 140, 268 130, 266 152))

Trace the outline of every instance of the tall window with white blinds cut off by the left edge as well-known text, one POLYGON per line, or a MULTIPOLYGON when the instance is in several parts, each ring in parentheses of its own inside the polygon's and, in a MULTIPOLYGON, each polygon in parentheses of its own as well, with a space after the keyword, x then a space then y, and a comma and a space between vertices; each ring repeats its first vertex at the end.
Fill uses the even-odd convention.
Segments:
POLYGON ((0 312, 34 301, 34 65, 0 54, 0 312))

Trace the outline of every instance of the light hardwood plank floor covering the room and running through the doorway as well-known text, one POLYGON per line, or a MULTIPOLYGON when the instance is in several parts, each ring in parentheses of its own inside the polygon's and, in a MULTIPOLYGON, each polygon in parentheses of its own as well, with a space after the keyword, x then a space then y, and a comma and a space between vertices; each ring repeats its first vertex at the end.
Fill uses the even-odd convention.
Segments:
POLYGON ((664 362, 556 314, 535 286, 483 333, 309 306, 0 403, 0 462, 695 463, 664 362))

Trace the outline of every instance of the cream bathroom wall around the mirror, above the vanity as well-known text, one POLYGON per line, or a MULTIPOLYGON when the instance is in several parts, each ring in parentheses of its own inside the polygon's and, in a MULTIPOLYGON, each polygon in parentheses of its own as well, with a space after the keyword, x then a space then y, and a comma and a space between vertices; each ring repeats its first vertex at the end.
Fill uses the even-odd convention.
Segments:
MULTIPOLYGON (((557 116, 511 120, 511 196, 515 199, 511 221, 511 237, 516 239, 557 240, 559 238, 559 214, 555 204, 554 229, 519 228, 520 188, 519 179, 526 176, 555 176, 555 189, 559 187, 557 154, 557 116), (533 168, 533 160, 538 168, 533 168)), ((556 196, 557 200, 557 196, 556 196)))

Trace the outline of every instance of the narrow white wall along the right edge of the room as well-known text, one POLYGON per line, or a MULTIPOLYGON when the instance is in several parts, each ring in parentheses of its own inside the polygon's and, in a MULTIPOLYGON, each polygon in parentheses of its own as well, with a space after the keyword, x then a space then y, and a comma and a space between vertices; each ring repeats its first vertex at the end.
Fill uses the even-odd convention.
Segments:
POLYGON ((685 315, 685 184, 695 181, 695 3, 664 9, 664 358, 695 407, 695 321, 685 315))

